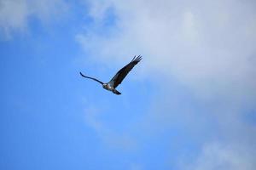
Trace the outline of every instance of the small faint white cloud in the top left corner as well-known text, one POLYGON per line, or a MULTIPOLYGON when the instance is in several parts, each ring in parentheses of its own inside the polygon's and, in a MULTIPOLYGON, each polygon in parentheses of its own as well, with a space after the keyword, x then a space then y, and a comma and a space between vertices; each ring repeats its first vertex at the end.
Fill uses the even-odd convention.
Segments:
POLYGON ((9 39, 14 32, 26 32, 30 18, 48 22, 66 10, 62 0, 0 0, 0 33, 9 39))

